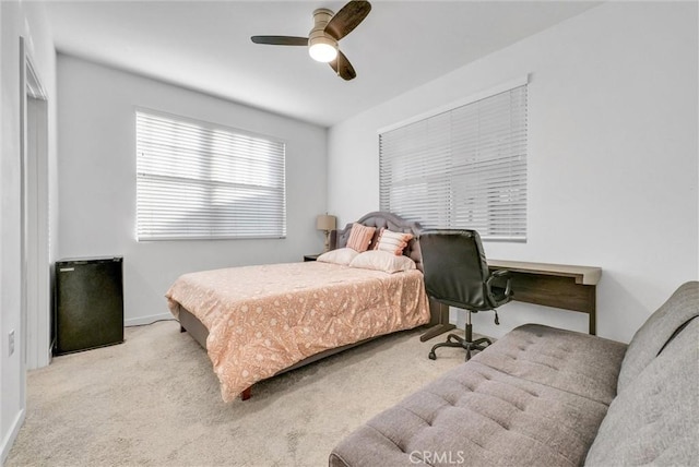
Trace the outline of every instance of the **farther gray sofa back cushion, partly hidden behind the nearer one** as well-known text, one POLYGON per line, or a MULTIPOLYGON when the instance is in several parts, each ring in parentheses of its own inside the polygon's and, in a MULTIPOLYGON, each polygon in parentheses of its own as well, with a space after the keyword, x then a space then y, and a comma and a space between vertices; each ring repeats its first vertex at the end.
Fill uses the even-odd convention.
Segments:
POLYGON ((621 363, 621 393, 665 346, 675 331, 699 314, 699 282, 683 284, 636 332, 621 363))

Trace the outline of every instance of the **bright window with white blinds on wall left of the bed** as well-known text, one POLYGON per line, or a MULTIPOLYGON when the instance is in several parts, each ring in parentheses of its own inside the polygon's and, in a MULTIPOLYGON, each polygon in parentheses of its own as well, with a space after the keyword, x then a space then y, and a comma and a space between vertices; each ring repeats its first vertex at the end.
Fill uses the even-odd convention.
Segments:
POLYGON ((283 238, 285 145, 137 111, 139 240, 283 238))

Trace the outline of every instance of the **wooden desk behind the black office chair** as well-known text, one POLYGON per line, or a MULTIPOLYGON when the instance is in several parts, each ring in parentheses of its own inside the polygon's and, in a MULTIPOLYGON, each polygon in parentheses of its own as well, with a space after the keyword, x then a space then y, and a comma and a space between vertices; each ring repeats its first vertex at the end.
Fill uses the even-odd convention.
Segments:
MULTIPOLYGON (((579 311, 589 316, 589 333, 596 334, 597 283, 602 268, 568 264, 488 260, 493 271, 508 270, 512 277, 513 301, 579 311)), ((433 327, 420 336, 430 339, 454 327, 449 324, 449 307, 430 300, 433 327)))

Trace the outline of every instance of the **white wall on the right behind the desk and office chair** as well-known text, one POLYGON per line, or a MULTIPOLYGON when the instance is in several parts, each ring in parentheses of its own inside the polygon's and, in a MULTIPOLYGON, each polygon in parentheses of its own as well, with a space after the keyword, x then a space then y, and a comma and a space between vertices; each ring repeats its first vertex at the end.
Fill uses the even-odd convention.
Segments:
MULTIPOLYGON (((597 334, 628 342, 699 277, 697 17, 696 2, 602 4, 333 127, 330 212, 342 225, 378 208, 378 129, 529 73, 529 240, 486 254, 601 266, 597 334)), ((474 330, 525 322, 588 328, 509 303, 474 330)))

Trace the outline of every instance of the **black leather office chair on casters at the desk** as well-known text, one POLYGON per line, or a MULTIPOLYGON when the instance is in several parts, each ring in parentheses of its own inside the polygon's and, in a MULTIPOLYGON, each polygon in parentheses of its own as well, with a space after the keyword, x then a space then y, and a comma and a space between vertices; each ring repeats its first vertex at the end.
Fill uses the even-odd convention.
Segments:
POLYGON ((485 259, 481 236, 475 230, 426 230, 419 236, 425 270, 425 288, 433 299, 466 313, 465 338, 449 334, 447 342, 437 344, 429 351, 431 360, 437 359, 439 347, 463 347, 466 360, 471 350, 483 350, 493 344, 490 339, 473 340, 471 313, 495 311, 512 298, 509 271, 490 273, 485 259))

